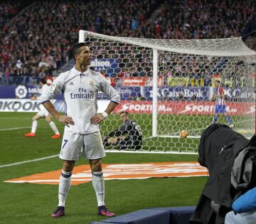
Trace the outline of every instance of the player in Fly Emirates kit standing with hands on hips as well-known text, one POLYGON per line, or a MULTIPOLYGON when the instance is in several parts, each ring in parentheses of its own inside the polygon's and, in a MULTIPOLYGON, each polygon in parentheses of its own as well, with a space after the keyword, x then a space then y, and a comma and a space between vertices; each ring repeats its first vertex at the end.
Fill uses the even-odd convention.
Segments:
POLYGON ((75 66, 50 85, 48 92, 41 96, 41 102, 50 114, 65 124, 60 159, 63 159, 63 171, 60 175, 58 190, 58 208, 51 215, 53 218, 65 214, 65 201, 71 185, 72 171, 80 154, 89 159, 92 170, 92 186, 95 189, 98 214, 114 216, 105 206, 105 183, 102 173, 102 158, 105 150, 100 135, 99 123, 107 119, 120 101, 119 93, 100 73, 90 70, 91 53, 86 43, 77 43, 72 48, 75 66), (102 91, 110 98, 107 109, 97 114, 97 92, 102 91), (60 115, 50 99, 58 92, 63 92, 66 103, 66 115, 60 115))

